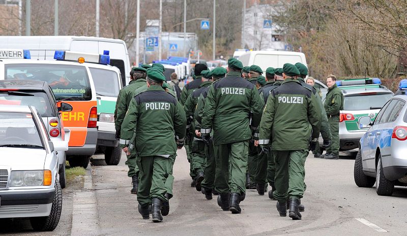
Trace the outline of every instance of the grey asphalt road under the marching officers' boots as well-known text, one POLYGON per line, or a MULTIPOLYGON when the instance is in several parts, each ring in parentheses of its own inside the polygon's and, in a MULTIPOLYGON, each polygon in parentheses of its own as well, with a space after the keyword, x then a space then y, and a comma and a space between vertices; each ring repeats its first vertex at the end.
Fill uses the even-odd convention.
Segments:
POLYGON ((307 191, 302 199, 305 212, 299 221, 280 217, 276 201, 255 190, 247 191, 242 214, 223 212, 216 197, 206 200, 190 187, 184 149, 179 150, 174 166, 169 215, 163 223, 143 220, 136 196, 130 194, 131 179, 124 162, 123 155, 119 165, 107 166, 101 156, 94 156, 92 179, 85 179, 84 190, 71 193, 68 206, 64 195, 62 221, 53 232, 29 232, 24 221, 21 231, 16 228, 19 223, 13 222, 12 231, 15 235, 406 235, 407 188, 396 187, 393 196, 385 197, 378 196, 374 187, 357 187, 354 160, 348 156, 339 160, 308 156, 307 191))

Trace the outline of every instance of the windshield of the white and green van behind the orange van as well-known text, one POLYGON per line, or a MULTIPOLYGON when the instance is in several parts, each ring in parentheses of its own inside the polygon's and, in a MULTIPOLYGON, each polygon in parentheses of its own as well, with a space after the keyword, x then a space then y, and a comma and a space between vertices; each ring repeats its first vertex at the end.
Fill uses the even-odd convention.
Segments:
POLYGON ((119 75, 110 70, 89 68, 93 83, 95 84, 96 95, 117 97, 120 91, 119 75))

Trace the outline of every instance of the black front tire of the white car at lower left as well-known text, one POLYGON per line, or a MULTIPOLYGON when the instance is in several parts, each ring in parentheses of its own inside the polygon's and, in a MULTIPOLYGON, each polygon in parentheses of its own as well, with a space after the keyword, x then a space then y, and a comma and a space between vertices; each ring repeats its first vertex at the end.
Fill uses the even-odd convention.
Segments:
POLYGON ((62 212, 62 190, 58 181, 55 181, 55 195, 49 216, 30 218, 31 226, 36 231, 53 231, 60 222, 62 212))

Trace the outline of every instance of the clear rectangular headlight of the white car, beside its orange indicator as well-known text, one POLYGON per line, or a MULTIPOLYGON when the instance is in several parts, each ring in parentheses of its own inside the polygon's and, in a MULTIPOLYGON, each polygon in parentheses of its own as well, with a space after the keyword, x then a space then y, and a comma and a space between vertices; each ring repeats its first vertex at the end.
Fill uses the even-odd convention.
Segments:
POLYGON ((12 171, 10 187, 41 186, 44 182, 44 171, 12 171))

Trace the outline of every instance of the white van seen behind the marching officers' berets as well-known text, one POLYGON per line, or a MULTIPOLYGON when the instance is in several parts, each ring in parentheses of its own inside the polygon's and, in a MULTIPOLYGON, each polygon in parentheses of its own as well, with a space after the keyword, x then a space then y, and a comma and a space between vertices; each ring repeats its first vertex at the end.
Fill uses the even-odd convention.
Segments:
POLYGON ((301 62, 308 67, 305 54, 301 52, 250 51, 239 56, 239 60, 242 61, 243 66, 258 65, 264 72, 270 66, 282 68, 284 63, 295 64, 301 62))

